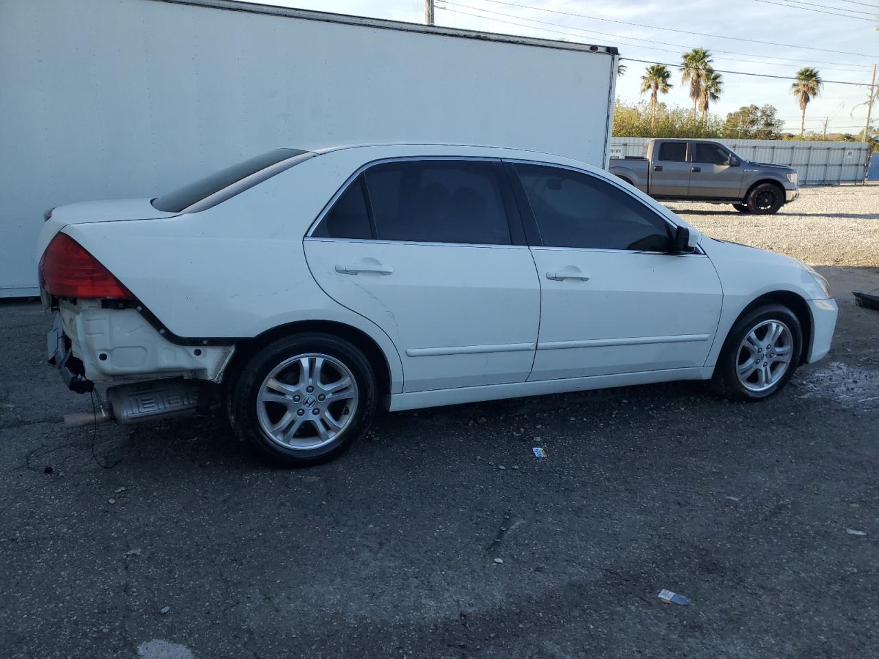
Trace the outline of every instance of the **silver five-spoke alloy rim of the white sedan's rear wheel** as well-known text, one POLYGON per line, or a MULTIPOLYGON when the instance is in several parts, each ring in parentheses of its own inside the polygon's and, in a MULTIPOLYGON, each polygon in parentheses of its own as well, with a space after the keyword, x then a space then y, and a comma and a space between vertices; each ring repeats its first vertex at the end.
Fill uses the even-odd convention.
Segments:
POLYGON ((257 395, 258 423, 268 438, 287 449, 320 448, 352 423, 358 398, 357 380, 337 358, 297 355, 275 366, 263 380, 257 395), (295 384, 289 384, 292 381, 295 384))

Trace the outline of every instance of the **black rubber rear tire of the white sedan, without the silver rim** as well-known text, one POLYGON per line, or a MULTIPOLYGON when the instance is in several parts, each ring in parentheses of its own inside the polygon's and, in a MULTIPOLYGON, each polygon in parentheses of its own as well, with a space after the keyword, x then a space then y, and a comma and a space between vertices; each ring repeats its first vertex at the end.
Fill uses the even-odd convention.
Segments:
MULTIPOLYGON (((314 373, 318 373, 318 370, 315 367, 314 373)), ((285 372, 281 371, 277 374, 278 380, 283 380, 284 376, 281 373, 285 372)), ((298 380, 302 381, 302 377, 300 370, 298 380)), ((272 379, 274 378, 275 376, 272 376, 272 379)), ((295 386, 294 384, 287 384, 286 381, 281 383, 291 389, 295 386)), ((236 436, 250 445, 265 460, 269 460, 280 467, 309 467, 337 458, 354 441, 366 433, 370 424, 372 424, 377 405, 377 387, 375 383, 375 373, 369 364, 369 360, 357 347, 345 341, 345 339, 318 332, 302 333, 280 338, 254 354, 243 366, 241 372, 237 374, 228 399, 229 421, 236 432, 236 436), (317 392, 320 391, 319 387, 314 392, 315 395, 306 395, 303 392, 301 398, 295 399, 297 401, 301 400, 301 403, 293 402, 292 392, 278 396, 279 398, 289 397, 289 402, 284 402, 283 404, 258 402, 258 396, 263 391, 265 382, 269 381, 268 376, 270 373, 287 362, 289 362, 287 368, 301 368, 301 362, 294 360, 294 358, 307 355, 312 355, 311 358, 307 358, 309 364, 312 365, 311 367, 316 366, 314 356, 331 358, 323 359, 322 363, 327 371, 333 371, 340 376, 339 381, 345 379, 350 373, 354 386, 351 390, 345 387, 345 391, 351 393, 351 401, 357 401, 356 406, 352 406, 350 402, 345 400, 339 400, 332 403, 328 402, 325 409, 320 409, 319 406, 322 403, 316 399, 317 392), (345 373, 344 369, 348 373, 345 373), (324 418, 324 414, 330 413, 331 405, 344 408, 336 407, 333 411, 334 416, 343 419, 344 427, 329 439, 315 438, 315 442, 324 441, 325 443, 322 445, 311 448, 304 445, 282 445, 280 439, 272 438, 272 435, 265 430, 266 424, 271 424, 273 419, 278 417, 280 417, 278 418, 278 423, 280 423, 283 418, 287 417, 287 413, 290 414, 291 419, 290 422, 287 422, 287 428, 292 427, 293 422, 296 421, 296 417, 293 416, 295 413, 302 416, 301 421, 297 424, 301 430, 291 433, 291 438, 300 432, 305 433, 306 425, 310 425, 315 433, 318 432, 318 424, 324 429, 324 432, 332 433, 331 426, 321 420, 324 418), (352 416, 348 418, 347 414, 350 407, 354 409, 352 410, 352 416), (300 410, 303 410, 304 414, 300 410), (313 412, 316 415, 315 419, 311 419, 309 412, 313 412), (328 428, 329 431, 327 430, 328 428)), ((309 391, 313 389, 314 387, 309 389, 309 391)), ((329 398, 333 397, 330 394, 326 395, 329 398)), ((297 394, 297 396, 299 395, 297 394)), ((295 441, 304 444, 308 441, 308 438, 301 440, 296 438, 295 441)))

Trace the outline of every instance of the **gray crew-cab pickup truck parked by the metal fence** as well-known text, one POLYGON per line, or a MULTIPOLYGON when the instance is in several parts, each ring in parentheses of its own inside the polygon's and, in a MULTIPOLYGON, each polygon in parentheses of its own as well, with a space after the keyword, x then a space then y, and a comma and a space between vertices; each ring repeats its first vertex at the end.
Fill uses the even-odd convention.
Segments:
POLYGON ((795 169, 710 140, 650 140, 646 157, 611 158, 610 172, 654 199, 731 203, 740 213, 777 213, 800 194, 795 169))

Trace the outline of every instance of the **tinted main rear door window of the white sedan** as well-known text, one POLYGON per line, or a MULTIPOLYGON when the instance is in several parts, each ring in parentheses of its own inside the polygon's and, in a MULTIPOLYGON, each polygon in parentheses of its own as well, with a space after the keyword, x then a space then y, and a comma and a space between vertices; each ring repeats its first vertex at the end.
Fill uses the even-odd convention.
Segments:
POLYGON ((367 170, 381 240, 508 245, 494 163, 403 161, 367 170))

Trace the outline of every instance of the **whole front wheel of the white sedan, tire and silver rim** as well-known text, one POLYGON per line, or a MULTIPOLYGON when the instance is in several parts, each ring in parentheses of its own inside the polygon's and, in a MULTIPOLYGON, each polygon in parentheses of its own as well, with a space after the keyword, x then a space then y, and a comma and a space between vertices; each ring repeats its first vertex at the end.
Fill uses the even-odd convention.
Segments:
POLYGON ((796 370, 803 329, 780 304, 752 309, 730 329, 711 386, 734 401, 759 401, 784 387, 796 370))

